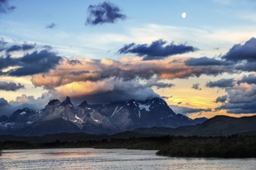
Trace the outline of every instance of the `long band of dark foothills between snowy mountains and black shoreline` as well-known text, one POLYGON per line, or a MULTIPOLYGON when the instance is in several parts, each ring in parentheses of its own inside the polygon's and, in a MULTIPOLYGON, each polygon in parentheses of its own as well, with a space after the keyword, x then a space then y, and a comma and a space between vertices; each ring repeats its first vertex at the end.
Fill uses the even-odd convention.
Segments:
MULTIPOLYGON (((147 138, 165 135, 174 136, 230 136, 238 134, 244 137, 256 134, 256 116, 252 117, 227 117, 216 116, 192 126, 178 128, 138 128, 133 131, 123 131, 116 134, 85 134, 85 133, 59 133, 43 136, 18 136, 0 134, 0 142, 26 141, 30 143, 49 143, 56 141, 102 141, 110 139, 147 138)), ((9 143, 9 142, 8 142, 9 143)))

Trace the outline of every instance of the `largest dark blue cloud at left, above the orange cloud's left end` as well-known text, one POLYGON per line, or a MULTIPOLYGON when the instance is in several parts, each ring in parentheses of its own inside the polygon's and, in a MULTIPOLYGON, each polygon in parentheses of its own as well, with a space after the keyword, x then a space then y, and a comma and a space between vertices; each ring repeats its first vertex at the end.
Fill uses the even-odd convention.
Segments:
POLYGON ((28 76, 36 73, 47 73, 50 69, 57 66, 61 59, 61 56, 57 56, 56 53, 49 52, 46 49, 40 52, 35 51, 19 58, 17 65, 21 67, 10 70, 9 75, 28 76))

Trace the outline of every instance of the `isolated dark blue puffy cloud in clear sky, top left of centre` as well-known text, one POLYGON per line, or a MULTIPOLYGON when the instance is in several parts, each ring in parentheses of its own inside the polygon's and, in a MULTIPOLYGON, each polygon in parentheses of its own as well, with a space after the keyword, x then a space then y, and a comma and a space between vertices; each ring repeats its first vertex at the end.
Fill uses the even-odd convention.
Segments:
POLYGON ((126 19, 126 15, 121 13, 121 10, 110 2, 102 2, 99 5, 88 6, 88 18, 86 25, 99 25, 104 23, 114 23, 119 19, 126 19))

